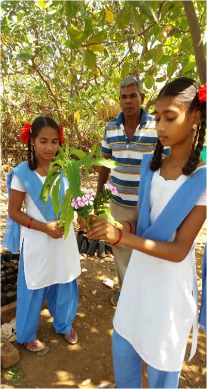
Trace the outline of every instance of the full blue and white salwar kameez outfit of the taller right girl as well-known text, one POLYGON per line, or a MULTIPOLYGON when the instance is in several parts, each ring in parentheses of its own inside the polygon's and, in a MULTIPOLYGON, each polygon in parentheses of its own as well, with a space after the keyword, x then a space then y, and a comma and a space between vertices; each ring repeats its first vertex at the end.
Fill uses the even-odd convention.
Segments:
MULTIPOLYGON (((150 170, 151 158, 141 167, 137 235, 172 242, 194 205, 205 205, 206 167, 166 181, 150 170)), ((142 360, 150 388, 178 387, 192 327, 190 358, 196 351, 197 296, 194 244, 181 262, 133 250, 113 320, 117 388, 141 388, 142 360)))

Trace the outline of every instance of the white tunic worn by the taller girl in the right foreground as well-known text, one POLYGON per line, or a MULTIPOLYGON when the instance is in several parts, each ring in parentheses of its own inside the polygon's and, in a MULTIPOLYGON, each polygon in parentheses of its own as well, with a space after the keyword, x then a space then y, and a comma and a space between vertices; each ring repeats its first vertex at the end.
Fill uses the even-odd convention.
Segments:
MULTIPOLYGON (((154 172, 151 182, 151 223, 188 179, 181 175, 175 181, 166 181, 159 173, 160 169, 154 172)), ((196 205, 206 205, 205 193, 196 205)), ((169 241, 174 240, 175 234, 169 241)), ((194 243, 179 263, 133 250, 113 320, 114 328, 153 368, 180 371, 192 324, 197 321, 196 293, 194 243)))

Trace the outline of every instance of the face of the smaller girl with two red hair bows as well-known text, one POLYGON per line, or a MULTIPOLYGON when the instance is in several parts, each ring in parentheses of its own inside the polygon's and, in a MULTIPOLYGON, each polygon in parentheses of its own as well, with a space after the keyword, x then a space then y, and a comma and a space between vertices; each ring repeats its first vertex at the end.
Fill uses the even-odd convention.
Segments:
POLYGON ((32 144, 35 146, 37 160, 39 158, 50 162, 58 151, 59 134, 51 127, 43 127, 36 138, 32 139, 32 144))

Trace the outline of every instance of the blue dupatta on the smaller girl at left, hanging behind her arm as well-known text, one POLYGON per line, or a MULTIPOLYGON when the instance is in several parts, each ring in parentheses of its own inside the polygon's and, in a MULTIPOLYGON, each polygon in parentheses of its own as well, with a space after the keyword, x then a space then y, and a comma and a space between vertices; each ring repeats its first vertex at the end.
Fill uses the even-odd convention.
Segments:
MULTIPOLYGON (((10 196, 11 192, 11 182, 13 174, 16 175, 21 185, 24 186, 25 191, 30 195, 32 201, 39 209, 40 213, 46 220, 57 220, 57 216, 53 211, 53 206, 51 202, 51 197, 48 197, 47 203, 43 203, 40 199, 40 192, 42 189, 42 182, 37 176, 37 174, 29 168, 27 162, 21 162, 16 168, 12 169, 7 175, 7 188, 8 195, 10 196)), ((66 189, 68 188, 68 182, 63 177, 60 185, 59 198, 62 202, 63 196, 66 189)), ((20 225, 16 221, 12 220, 9 215, 6 221, 5 233, 3 237, 2 247, 16 253, 19 251, 20 244, 20 225)))

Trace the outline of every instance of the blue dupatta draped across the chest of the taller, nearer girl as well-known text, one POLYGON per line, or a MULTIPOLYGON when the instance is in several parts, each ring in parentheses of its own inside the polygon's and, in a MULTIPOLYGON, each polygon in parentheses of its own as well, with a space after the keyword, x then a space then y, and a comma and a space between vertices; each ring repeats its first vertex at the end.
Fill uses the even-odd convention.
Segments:
MULTIPOLYGON (((191 212, 206 188, 206 167, 191 174, 166 204, 158 218, 151 224, 149 193, 153 171, 150 169, 152 154, 143 156, 139 188, 139 218, 136 234, 147 239, 166 242, 191 212)), ((161 201, 161 199, 160 199, 161 201)))

